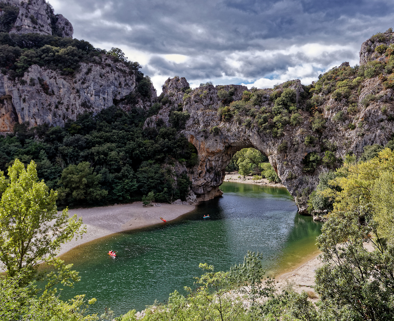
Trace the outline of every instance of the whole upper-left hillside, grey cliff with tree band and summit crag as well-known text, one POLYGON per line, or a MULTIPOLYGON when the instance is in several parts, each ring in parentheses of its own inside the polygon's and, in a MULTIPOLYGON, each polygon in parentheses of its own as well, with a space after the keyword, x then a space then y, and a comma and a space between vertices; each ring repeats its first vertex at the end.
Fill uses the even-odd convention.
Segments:
POLYGON ((0 2, 0 132, 16 123, 64 126, 112 105, 149 109, 157 94, 138 62, 72 39, 44 0, 0 2))

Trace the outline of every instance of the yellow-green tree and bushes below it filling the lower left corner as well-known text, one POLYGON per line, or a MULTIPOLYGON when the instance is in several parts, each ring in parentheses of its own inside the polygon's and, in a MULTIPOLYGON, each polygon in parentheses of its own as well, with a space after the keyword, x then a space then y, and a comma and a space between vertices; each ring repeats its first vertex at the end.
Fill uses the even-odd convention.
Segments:
POLYGON ((59 300, 56 284, 72 286, 78 272, 58 258, 61 244, 85 233, 82 218, 58 214, 57 193, 37 177, 32 161, 25 169, 15 160, 9 180, 0 171, 0 320, 96 320, 86 315, 95 299, 79 295, 67 303, 59 300), (47 264, 46 273, 39 264, 47 264), (37 286, 37 281, 44 281, 37 286))

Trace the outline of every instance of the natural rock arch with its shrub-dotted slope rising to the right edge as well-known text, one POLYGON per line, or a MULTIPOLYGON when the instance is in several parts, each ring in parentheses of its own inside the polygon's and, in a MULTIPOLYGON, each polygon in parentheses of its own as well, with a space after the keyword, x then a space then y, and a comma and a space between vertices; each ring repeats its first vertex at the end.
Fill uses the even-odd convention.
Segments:
MULTIPOLYGON (((388 46, 392 42, 392 32, 384 37, 388 46)), ((382 41, 375 42, 375 47, 382 41)), ((366 65, 368 61, 388 59, 384 53, 368 49, 370 43, 371 40, 364 42, 360 52, 361 69, 362 72, 365 69, 366 74, 368 68, 372 68, 366 65)), ((198 200, 220 195, 219 185, 234 153, 253 147, 268 156, 282 183, 296 199, 299 211, 306 213, 308 195, 316 188, 321 172, 340 166, 346 153, 360 156, 365 145, 385 145, 394 131, 393 89, 388 88, 387 82, 383 84, 387 79, 384 76, 360 77, 362 72, 344 63, 327 73, 323 78, 327 80, 308 88, 294 80, 277 86, 275 90, 258 91, 261 96, 258 105, 251 108, 249 103, 249 110, 240 109, 227 119, 221 110, 228 105, 222 99, 223 90, 231 91, 232 101, 240 101, 246 87, 206 84, 190 92, 185 78, 169 79, 163 87, 164 97, 169 102, 157 115, 147 119, 145 127, 162 123, 170 125, 169 115, 173 110, 190 115, 181 132, 198 152, 198 164, 188 170, 198 200), (286 125, 280 129, 280 121, 275 121, 274 116, 278 114, 274 112, 276 103, 272 97, 286 88, 296 92, 299 121, 282 122, 286 125), (304 89, 309 91, 307 101, 302 99, 306 96, 304 89), (313 94, 317 90, 319 94, 313 94), (265 130, 269 128, 265 125, 260 126, 259 119, 264 117, 273 117, 267 124, 271 121, 273 126, 279 126, 279 130, 274 132, 265 130), (327 155, 331 160, 325 160, 327 155)), ((290 114, 287 115, 290 119, 290 114)), ((279 116, 287 117, 284 112, 279 116)))

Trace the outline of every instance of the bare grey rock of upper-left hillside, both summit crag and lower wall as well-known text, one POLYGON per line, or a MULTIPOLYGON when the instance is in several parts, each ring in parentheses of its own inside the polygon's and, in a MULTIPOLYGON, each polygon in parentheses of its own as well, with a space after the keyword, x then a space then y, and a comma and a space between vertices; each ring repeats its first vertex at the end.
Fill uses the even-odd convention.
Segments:
MULTIPOLYGON (((13 34, 28 33, 72 38, 71 23, 62 15, 54 15, 45 0, 4 0, 0 5, 0 20, 5 17, 7 21, 4 24, 1 20, 0 27, 8 31, 10 40, 13 34)), ((136 73, 124 61, 109 55, 80 62, 72 73, 33 64, 22 77, 15 78, 3 68, 0 132, 12 132, 15 123, 27 123, 29 127, 44 123, 63 126, 67 119, 75 120, 78 114, 97 113, 113 104, 127 109, 130 102, 126 96, 135 92, 136 85, 136 73)), ((152 98, 157 97, 153 86, 148 96, 133 97, 133 106, 149 108, 152 98)))

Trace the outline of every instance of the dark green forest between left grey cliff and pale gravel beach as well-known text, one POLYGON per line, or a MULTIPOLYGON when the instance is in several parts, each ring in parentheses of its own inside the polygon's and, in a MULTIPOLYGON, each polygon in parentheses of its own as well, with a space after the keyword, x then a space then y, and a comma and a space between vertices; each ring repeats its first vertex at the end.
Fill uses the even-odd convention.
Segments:
POLYGON ((14 134, 0 137, 0 169, 6 172, 15 158, 34 160, 63 207, 132 202, 150 192, 156 202, 185 200, 190 180, 173 166, 195 165, 195 148, 175 128, 143 130, 146 114, 113 106, 63 128, 16 125, 14 134))

